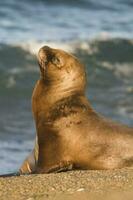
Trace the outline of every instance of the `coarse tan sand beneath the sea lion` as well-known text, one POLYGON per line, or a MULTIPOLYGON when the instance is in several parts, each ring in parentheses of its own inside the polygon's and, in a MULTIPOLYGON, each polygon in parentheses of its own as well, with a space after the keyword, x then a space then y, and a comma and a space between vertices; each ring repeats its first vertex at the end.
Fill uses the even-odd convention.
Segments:
POLYGON ((133 169, 0 178, 0 200, 132 200, 133 169))

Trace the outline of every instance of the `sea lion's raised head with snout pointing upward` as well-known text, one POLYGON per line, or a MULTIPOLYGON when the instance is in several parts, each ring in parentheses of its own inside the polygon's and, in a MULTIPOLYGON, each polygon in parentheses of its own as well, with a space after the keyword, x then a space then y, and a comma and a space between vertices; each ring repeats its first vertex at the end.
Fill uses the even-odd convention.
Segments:
POLYGON ((85 70, 75 56, 44 46, 39 50, 38 62, 44 84, 64 90, 85 90, 85 70))

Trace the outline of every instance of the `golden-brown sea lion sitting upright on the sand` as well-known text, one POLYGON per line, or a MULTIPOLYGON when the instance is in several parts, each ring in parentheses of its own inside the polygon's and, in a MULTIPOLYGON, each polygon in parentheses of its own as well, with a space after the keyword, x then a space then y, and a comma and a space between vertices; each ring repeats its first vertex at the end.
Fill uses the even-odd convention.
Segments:
POLYGON ((32 95, 37 138, 20 173, 133 166, 133 128, 97 114, 85 96, 84 66, 73 55, 44 46, 32 95))

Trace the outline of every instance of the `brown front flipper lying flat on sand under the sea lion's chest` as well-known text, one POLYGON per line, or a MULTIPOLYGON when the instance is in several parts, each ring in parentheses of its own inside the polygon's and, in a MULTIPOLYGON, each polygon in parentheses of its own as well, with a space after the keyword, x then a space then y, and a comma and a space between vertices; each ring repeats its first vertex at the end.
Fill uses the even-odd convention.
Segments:
POLYGON ((61 161, 59 164, 52 166, 49 168, 46 173, 59 173, 70 171, 73 169, 73 163, 71 161, 61 161))

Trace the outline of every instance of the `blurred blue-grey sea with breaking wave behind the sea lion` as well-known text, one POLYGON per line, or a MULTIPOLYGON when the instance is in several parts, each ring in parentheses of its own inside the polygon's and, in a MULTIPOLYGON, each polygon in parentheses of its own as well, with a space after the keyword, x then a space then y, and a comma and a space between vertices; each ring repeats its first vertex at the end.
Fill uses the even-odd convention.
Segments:
POLYGON ((16 171, 34 145, 42 45, 78 56, 93 107, 133 125, 132 0, 0 0, 0 174, 16 171))

